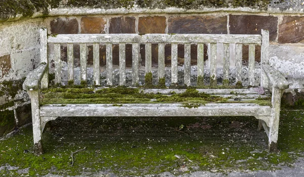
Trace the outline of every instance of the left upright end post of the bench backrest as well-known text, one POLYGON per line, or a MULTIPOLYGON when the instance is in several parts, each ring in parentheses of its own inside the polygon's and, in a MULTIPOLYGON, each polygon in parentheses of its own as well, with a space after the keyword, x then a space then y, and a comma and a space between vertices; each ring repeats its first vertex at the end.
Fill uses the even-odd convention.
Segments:
MULTIPOLYGON (((46 28, 40 29, 40 62, 49 63, 48 60, 48 31, 46 28)), ((49 86, 49 67, 46 68, 46 72, 41 80, 41 87, 43 89, 49 86)))

